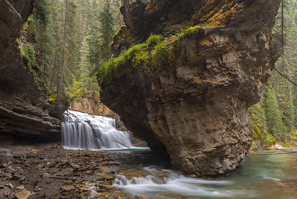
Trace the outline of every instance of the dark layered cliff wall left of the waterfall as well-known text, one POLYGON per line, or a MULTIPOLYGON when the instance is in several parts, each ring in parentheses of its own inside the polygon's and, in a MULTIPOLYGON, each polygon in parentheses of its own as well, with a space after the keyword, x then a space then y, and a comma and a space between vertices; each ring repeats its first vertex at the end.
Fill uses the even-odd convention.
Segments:
POLYGON ((16 39, 32 10, 33 0, 0 2, 0 139, 60 140, 66 106, 49 104, 22 60, 16 39))

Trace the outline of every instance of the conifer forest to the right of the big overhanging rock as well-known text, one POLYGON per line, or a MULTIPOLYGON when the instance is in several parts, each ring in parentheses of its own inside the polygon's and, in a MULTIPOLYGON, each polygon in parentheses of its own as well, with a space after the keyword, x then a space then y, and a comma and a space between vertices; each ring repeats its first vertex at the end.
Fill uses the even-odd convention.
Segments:
POLYGON ((297 1, 282 1, 272 35, 279 58, 261 101, 249 108, 252 148, 297 139, 297 1))

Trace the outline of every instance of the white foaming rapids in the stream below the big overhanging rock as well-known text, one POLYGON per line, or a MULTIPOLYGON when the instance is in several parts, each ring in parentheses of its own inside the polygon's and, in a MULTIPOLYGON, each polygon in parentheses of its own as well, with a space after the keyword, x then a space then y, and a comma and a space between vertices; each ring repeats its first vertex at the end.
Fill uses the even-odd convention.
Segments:
POLYGON ((244 194, 244 190, 219 189, 220 186, 230 186, 232 182, 189 178, 179 175, 177 171, 158 169, 156 166, 134 170, 145 173, 145 176, 127 178, 127 175, 116 175, 113 186, 123 189, 130 195, 149 198, 166 198, 168 196, 191 197, 235 197, 244 194), (164 195, 164 197, 162 196, 164 195))

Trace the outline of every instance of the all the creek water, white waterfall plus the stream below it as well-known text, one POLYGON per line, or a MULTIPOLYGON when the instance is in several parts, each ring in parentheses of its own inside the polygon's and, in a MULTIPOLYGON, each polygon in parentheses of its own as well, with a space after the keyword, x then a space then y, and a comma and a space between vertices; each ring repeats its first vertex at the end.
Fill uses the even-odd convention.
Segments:
MULTIPOLYGON (((117 149, 110 155, 120 167, 92 176, 92 181, 115 174, 115 188, 127 196, 148 198, 297 198, 297 164, 291 154, 249 155, 244 164, 225 175, 189 178, 171 170, 166 160, 156 158, 149 148, 136 148, 127 132, 117 131, 108 117, 69 111, 62 123, 65 148, 117 149), (90 122, 85 122, 89 120, 90 122), (73 122, 76 121, 76 122, 73 122), (119 144, 118 142, 132 149, 119 144), (120 150, 118 150, 120 149, 120 150), (117 168, 117 171, 112 170, 117 168)), ((279 151, 277 151, 279 152, 279 151)), ((272 153, 277 153, 272 151, 272 153)), ((271 153, 266 151, 263 153, 271 153)), ((98 194, 95 187, 91 193, 98 194)))

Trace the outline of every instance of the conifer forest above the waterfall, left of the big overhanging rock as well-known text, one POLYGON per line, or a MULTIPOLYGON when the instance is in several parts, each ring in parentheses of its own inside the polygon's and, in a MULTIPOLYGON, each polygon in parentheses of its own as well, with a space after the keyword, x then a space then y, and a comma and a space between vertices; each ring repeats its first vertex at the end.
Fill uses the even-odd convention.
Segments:
POLYGON ((35 81, 51 103, 99 99, 94 68, 111 58, 110 43, 123 25, 121 1, 38 0, 20 44, 35 81))

